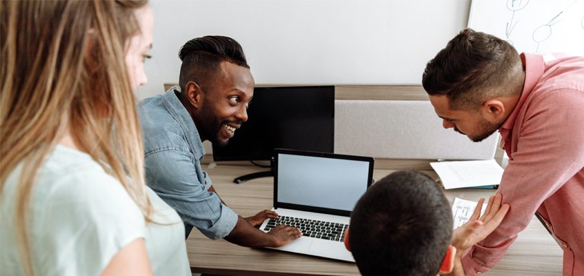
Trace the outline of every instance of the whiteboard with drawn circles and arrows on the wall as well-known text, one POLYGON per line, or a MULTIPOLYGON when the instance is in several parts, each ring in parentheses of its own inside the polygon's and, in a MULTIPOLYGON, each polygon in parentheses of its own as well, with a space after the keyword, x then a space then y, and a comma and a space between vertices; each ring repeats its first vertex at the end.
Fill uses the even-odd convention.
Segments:
POLYGON ((473 0, 468 27, 518 52, 584 56, 584 0, 473 0))

